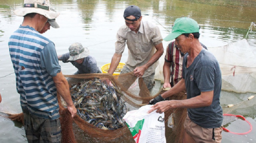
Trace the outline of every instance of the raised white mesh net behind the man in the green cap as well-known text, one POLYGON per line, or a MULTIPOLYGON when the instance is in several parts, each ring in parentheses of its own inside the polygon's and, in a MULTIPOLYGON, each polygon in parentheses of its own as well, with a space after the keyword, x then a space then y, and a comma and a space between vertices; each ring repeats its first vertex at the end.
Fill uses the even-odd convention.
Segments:
POLYGON ((256 55, 243 39, 222 47, 208 48, 220 63, 222 90, 256 93, 256 55), (239 82, 237 82, 239 81, 239 82))

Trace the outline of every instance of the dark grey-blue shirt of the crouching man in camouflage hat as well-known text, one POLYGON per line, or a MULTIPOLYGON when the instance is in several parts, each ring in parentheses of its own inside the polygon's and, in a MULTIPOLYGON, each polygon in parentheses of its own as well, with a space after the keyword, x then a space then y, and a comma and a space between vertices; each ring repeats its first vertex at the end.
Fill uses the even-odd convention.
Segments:
POLYGON ((75 74, 101 73, 100 69, 97 67, 95 58, 90 55, 85 57, 83 63, 81 64, 75 61, 68 61, 68 59, 69 53, 63 54, 62 57, 60 57, 60 60, 62 60, 64 63, 71 62, 78 69, 75 74))

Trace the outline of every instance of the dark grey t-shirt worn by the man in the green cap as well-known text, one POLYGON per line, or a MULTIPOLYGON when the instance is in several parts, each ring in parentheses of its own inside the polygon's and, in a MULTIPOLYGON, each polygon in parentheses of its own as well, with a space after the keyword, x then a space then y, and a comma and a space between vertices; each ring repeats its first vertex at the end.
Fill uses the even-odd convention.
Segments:
POLYGON ((220 106, 221 69, 215 56, 204 48, 194 59, 190 67, 187 66, 185 54, 182 66, 182 78, 185 80, 187 99, 214 90, 212 104, 208 107, 188 108, 188 116, 197 125, 204 128, 221 127, 223 111, 220 106))

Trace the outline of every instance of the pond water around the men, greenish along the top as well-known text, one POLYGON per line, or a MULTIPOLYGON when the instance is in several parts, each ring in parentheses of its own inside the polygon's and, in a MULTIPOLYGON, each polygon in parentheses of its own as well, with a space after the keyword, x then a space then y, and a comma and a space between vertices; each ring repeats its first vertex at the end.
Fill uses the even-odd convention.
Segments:
MULTIPOLYGON (((0 111, 20 113, 19 94, 16 92, 14 69, 11 64, 8 40, 10 35, 22 23, 23 17, 14 15, 14 10, 22 7, 22 0, 0 1, 0 92, 2 103, 0 111)), ((69 46, 80 42, 88 47, 99 67, 111 62, 114 54, 115 34, 125 24, 123 12, 128 5, 138 5, 142 10, 143 20, 157 24, 163 37, 171 31, 176 18, 186 16, 195 19, 200 25, 200 42, 206 47, 218 47, 245 38, 251 22, 255 21, 255 0, 53 0, 52 8, 60 13, 57 22, 60 28, 51 28, 44 36, 56 45, 57 54, 68 52, 69 46)), ((249 32, 247 41, 256 51, 256 29, 249 32)), ((166 48, 168 42, 163 42, 166 48)), ((242 48, 242 47, 241 47, 242 48)), ((127 48, 121 62, 126 62, 127 48)), ((62 63, 63 74, 73 74, 76 68, 70 63, 62 63)), ((227 105, 229 100, 240 102, 252 93, 239 94, 222 91, 221 103, 227 105), (241 96, 243 98, 241 98, 241 96), (235 97, 235 98, 234 98, 235 97)), ((254 115, 246 119, 254 127, 246 135, 234 135, 223 132, 222 142, 256 142, 255 105, 254 115)), ((231 126, 231 125, 230 125, 231 126)), ((237 122, 230 128, 243 126, 237 122)), ((0 142, 27 142, 21 124, 0 116, 0 142)), ((246 129, 245 129, 246 130, 246 129)))

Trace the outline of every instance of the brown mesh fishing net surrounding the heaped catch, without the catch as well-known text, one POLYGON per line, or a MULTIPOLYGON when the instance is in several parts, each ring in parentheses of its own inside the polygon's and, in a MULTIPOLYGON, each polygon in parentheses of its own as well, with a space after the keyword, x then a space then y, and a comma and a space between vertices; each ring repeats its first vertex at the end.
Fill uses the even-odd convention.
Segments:
MULTIPOLYGON (((78 83, 92 84, 90 81, 95 80, 98 80, 97 82, 101 81, 104 83, 106 80, 110 80, 113 84, 117 97, 120 97, 119 100, 125 102, 126 108, 123 109, 124 113, 147 105, 151 99, 165 92, 163 89, 160 89, 159 92, 152 95, 143 82, 143 79, 138 79, 133 75, 133 73, 120 74, 119 76, 112 76, 109 74, 80 74, 65 75, 65 77, 68 79, 71 95, 72 92, 74 92, 72 91, 72 87, 74 87, 74 85, 79 85, 78 83)), ((96 87, 94 88, 96 89, 96 87)), ((167 100, 182 99, 186 99, 185 91, 173 95, 167 100)), ((74 103, 78 102, 76 98, 72 98, 72 100, 75 101, 74 103)), ((95 126, 97 124, 90 124, 84 118, 81 118, 79 113, 74 118, 71 118, 71 114, 68 109, 65 108, 65 101, 59 94, 58 102, 60 107, 60 123, 62 125, 62 142, 135 142, 129 128, 125 124, 119 128, 113 129, 110 128, 109 125, 105 126, 107 128, 102 129, 95 126)), ((115 105, 116 108, 118 106, 119 105, 115 105)), ((184 132, 183 123, 186 118, 186 109, 170 109, 164 112, 164 116, 167 142, 182 142, 182 135, 184 132)), ((8 118, 22 122, 23 114, 8 114, 8 118)))

